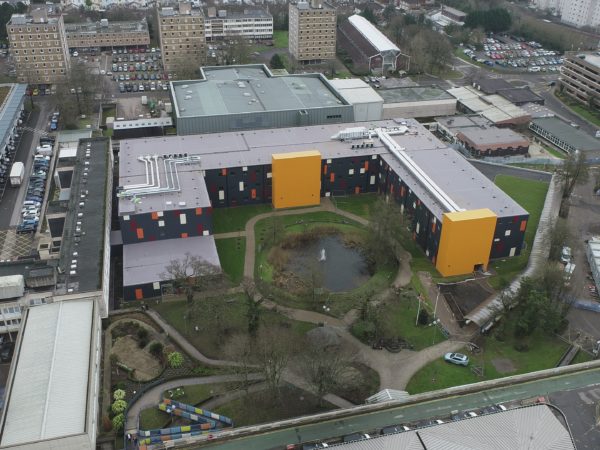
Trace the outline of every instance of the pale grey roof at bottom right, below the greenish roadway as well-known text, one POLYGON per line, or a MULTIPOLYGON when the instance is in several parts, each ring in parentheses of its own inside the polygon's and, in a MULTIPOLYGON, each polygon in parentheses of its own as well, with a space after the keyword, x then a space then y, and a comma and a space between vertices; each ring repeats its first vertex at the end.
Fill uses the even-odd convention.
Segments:
POLYGON ((509 409, 348 444, 344 450, 575 450, 569 431, 550 407, 509 409))

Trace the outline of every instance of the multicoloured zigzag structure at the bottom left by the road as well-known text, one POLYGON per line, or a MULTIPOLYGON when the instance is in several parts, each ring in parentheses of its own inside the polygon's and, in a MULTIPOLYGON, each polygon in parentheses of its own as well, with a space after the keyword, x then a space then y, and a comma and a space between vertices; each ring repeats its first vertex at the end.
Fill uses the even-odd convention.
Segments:
POLYGON ((177 439, 185 439, 191 436, 214 433, 222 428, 233 427, 233 421, 229 417, 196 408, 195 406, 181 403, 169 398, 164 398, 158 404, 158 409, 173 416, 183 417, 192 422, 191 425, 180 427, 157 428, 154 430, 139 430, 140 450, 149 450, 154 444, 160 444, 177 439))

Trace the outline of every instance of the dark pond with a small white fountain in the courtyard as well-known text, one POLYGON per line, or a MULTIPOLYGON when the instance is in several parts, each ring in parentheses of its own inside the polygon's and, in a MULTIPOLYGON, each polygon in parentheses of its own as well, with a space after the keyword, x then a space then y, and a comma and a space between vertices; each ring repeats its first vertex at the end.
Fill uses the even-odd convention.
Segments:
POLYGON ((325 289, 343 292, 365 283, 369 267, 360 249, 347 247, 338 235, 325 236, 290 251, 286 270, 307 279, 313 275, 325 289))

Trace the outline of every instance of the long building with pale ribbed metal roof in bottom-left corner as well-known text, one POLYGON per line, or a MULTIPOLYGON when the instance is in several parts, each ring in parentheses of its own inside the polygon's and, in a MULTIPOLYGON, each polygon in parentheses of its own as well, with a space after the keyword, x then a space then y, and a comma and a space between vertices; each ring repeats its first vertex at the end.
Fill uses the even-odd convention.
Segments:
POLYGON ((27 310, 6 388, 0 448, 93 450, 101 322, 93 298, 27 310))

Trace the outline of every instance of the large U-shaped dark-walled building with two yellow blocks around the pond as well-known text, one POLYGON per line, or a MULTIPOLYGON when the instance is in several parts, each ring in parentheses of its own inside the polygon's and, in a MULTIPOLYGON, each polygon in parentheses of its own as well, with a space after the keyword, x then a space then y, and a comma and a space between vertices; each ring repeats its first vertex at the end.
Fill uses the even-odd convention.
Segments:
MULTIPOLYGON (((529 219, 414 120, 122 141, 120 185, 124 256, 139 243, 180 241, 170 253, 154 253, 164 254, 162 267, 190 238, 202 240, 198 254, 218 265, 212 208, 307 206, 322 197, 379 192, 400 205, 413 239, 443 276, 485 270, 490 259, 519 255, 529 219)), ((187 251, 194 251, 191 242, 187 251)), ((144 266, 144 252, 136 257, 136 265, 144 266)), ((160 295, 164 280, 136 284, 133 277, 128 284, 124 265, 126 300, 160 295)))

